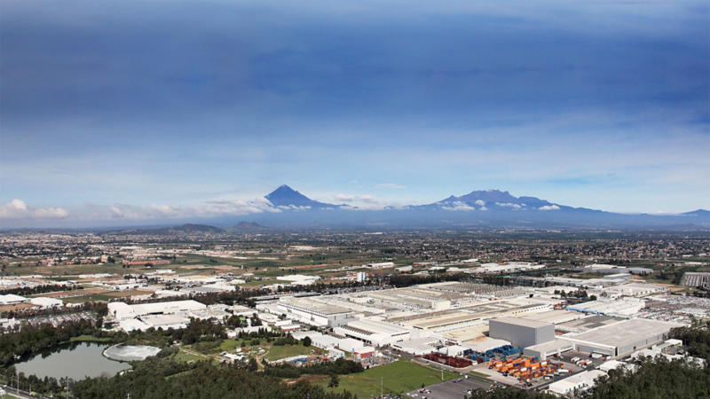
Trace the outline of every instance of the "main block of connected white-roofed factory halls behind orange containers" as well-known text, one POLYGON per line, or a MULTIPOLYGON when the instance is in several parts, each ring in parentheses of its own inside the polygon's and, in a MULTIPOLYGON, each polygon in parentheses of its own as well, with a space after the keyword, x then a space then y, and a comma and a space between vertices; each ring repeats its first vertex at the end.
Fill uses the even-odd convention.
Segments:
POLYGON ((412 356, 442 350, 463 356, 509 346, 538 357, 569 350, 613 357, 650 347, 664 340, 671 328, 683 325, 636 317, 645 307, 643 295, 663 292, 664 286, 614 287, 619 295, 573 305, 549 288, 446 282, 338 295, 274 296, 256 309, 412 356))

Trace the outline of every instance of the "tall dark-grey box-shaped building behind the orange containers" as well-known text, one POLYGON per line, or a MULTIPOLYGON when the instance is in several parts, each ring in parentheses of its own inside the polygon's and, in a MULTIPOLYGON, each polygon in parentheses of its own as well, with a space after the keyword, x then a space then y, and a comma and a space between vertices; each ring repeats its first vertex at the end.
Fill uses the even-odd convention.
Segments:
POLYGON ((509 340, 516 347, 530 347, 555 340, 555 325, 518 317, 499 317, 489 320, 488 336, 509 340))

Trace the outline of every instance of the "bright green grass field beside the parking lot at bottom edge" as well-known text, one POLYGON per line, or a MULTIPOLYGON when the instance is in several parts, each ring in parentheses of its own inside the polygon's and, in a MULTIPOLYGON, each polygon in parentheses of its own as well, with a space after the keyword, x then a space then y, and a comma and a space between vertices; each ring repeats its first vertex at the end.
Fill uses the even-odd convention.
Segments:
MULTIPOLYGON (((457 372, 444 372, 445 380, 457 377, 460 377, 457 372)), ((422 384, 426 386, 440 382, 441 371, 400 360, 365 372, 343 375, 340 378, 340 385, 335 388, 327 387, 329 379, 320 379, 318 383, 329 392, 343 392, 343 389, 347 389, 351 394, 364 398, 370 395, 380 395, 381 378, 383 378, 384 393, 398 395, 399 392, 422 387, 422 384)))

